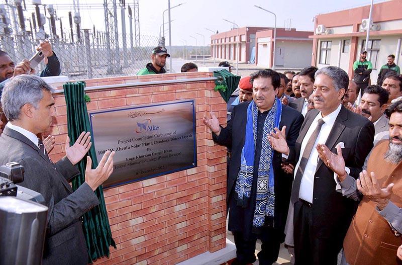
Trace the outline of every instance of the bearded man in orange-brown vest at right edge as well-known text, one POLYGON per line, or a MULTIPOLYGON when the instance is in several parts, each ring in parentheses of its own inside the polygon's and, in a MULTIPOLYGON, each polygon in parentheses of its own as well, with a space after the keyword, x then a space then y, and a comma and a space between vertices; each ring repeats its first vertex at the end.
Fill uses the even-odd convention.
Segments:
MULTIPOLYGON (((400 262, 396 250, 401 244, 402 232, 402 195, 399 192, 402 189, 402 102, 391 104, 385 113, 389 117, 389 140, 380 141, 374 147, 367 171, 360 173, 359 180, 354 181, 349 176, 339 179, 341 185, 353 183, 352 193, 345 196, 354 200, 361 194, 364 196, 343 243, 343 265, 400 262)), ((338 155, 329 152, 326 146, 318 149, 327 166, 335 172, 342 171, 341 148, 337 149, 338 155)))

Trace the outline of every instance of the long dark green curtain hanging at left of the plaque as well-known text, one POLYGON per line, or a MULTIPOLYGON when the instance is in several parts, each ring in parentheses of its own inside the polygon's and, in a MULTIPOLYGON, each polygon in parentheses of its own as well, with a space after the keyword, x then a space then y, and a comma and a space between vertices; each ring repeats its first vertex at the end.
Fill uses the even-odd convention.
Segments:
MULTIPOLYGON (((89 132, 91 130, 88 112, 86 110, 84 88, 85 82, 83 81, 63 84, 67 105, 67 125, 70 145, 77 140, 81 132, 89 132)), ((92 158, 92 168, 95 168, 97 166, 97 159, 93 137, 91 141, 92 146, 88 155, 92 158)), ((86 156, 77 163, 77 166, 81 173, 72 181, 72 189, 74 191, 85 182, 86 156)), ((95 193, 100 204, 84 214, 82 223, 89 255, 89 263, 92 263, 92 260, 96 260, 99 257, 109 257, 109 246, 116 248, 116 243, 112 238, 112 232, 110 230, 102 186, 99 186, 95 193)))

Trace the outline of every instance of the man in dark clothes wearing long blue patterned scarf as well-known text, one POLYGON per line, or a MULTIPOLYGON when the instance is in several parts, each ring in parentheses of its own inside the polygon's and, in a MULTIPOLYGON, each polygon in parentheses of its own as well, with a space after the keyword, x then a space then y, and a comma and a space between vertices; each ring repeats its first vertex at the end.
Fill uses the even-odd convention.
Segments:
POLYGON ((229 230, 233 232, 237 258, 232 264, 256 260, 255 243, 262 241, 260 264, 278 258, 284 239, 292 176, 281 169, 282 155, 268 142, 277 128, 286 130, 289 146, 297 138, 303 116, 276 97, 279 74, 266 69, 251 74, 253 101, 237 105, 226 128, 211 112, 204 123, 212 130, 214 141, 232 148, 227 184, 229 230))

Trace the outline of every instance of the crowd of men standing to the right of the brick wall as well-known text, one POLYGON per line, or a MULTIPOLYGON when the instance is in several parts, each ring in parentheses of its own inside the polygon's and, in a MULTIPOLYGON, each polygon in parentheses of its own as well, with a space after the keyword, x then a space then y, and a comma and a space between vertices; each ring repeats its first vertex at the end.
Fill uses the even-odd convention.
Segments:
POLYGON ((226 127, 204 117, 230 152, 232 264, 253 263, 257 239, 259 264, 281 242, 296 265, 402 263, 402 76, 389 55, 370 85, 366 56, 353 79, 335 66, 259 70, 240 80, 226 127))

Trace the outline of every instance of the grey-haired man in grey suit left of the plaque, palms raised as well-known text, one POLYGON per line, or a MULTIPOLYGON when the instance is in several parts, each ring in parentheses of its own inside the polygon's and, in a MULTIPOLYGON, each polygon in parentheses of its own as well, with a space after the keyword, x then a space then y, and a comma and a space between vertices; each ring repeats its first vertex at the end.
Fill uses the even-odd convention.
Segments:
POLYGON ((89 150, 89 133, 74 145, 66 139, 66 156, 53 163, 37 134, 50 130, 55 115, 53 88, 34 75, 10 79, 2 95, 9 122, 0 136, 0 164, 15 161, 25 168, 23 187, 39 192, 49 207, 43 264, 87 264, 80 217, 99 201, 93 191, 113 172, 114 152, 108 151, 96 169, 87 156, 85 182, 73 192, 68 181, 79 170, 74 166, 89 150))

